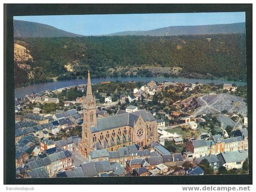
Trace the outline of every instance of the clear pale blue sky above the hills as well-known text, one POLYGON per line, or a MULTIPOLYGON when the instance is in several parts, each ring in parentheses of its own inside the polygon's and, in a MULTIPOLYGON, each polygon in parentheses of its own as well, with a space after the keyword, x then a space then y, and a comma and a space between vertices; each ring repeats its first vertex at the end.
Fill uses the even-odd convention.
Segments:
POLYGON ((245 22, 245 12, 14 16, 14 20, 43 23, 90 36, 169 26, 240 23, 245 22))

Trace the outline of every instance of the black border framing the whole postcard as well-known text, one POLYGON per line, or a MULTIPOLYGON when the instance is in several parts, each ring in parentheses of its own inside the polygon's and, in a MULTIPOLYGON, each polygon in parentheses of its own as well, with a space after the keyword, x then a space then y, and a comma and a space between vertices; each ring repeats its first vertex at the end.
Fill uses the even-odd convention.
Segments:
POLYGON ((252 184, 252 4, 4 4, 4 184, 252 184), (171 12, 246 12, 249 174, 16 179, 13 16, 171 12))

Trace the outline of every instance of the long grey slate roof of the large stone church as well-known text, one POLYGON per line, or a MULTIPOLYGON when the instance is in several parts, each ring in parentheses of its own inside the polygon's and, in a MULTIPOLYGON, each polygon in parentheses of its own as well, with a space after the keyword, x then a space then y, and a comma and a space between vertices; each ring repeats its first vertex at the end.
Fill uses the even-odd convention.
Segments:
POLYGON ((143 121, 155 121, 155 117, 146 110, 139 110, 132 113, 117 114, 115 116, 102 117, 97 119, 97 126, 90 127, 92 133, 110 130, 122 126, 134 126, 134 122, 142 117, 143 121))

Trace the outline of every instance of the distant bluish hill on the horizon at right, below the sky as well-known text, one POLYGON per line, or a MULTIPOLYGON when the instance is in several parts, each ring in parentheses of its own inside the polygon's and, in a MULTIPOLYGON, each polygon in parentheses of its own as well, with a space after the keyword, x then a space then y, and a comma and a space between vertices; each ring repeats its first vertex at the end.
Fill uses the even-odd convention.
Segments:
POLYGON ((123 31, 107 36, 180 36, 180 35, 204 35, 204 34, 234 34, 245 33, 245 23, 231 23, 218 25, 198 25, 198 26, 171 26, 157 28, 147 31, 123 31))

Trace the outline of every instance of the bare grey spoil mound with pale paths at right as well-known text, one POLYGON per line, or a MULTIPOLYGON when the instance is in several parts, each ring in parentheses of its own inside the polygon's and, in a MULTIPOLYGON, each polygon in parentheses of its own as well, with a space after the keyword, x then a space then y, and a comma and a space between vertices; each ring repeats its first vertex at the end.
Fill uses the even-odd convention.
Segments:
POLYGON ((247 106, 243 100, 244 98, 226 93, 205 95, 197 99, 201 107, 195 109, 194 115, 216 114, 222 110, 227 110, 231 113, 247 116, 247 106))

